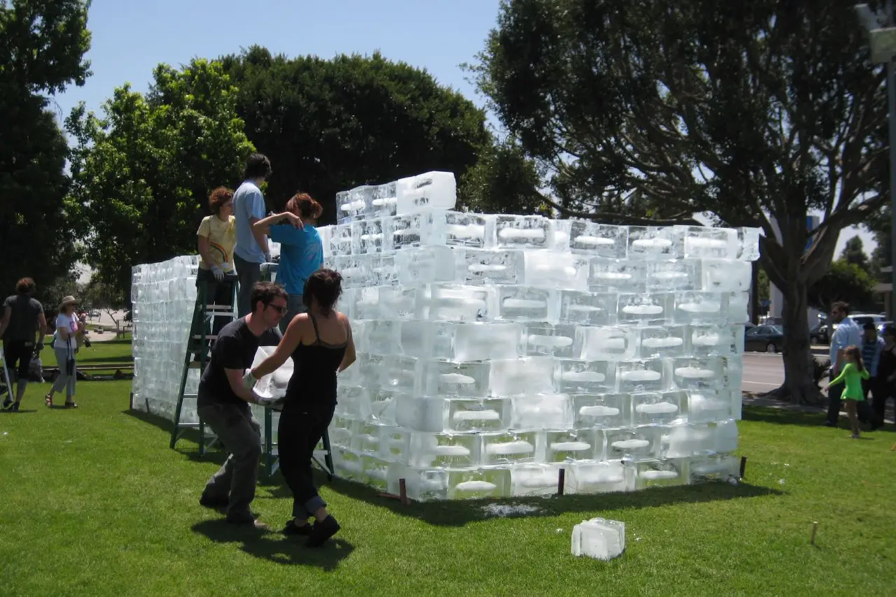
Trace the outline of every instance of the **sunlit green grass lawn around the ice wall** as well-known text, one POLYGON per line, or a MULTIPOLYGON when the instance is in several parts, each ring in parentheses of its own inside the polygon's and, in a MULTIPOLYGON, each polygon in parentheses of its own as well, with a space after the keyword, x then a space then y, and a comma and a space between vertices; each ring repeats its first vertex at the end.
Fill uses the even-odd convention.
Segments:
MULTIPOLYGON (((81 408, 0 415, 3 595, 892 595, 896 433, 859 441, 819 415, 753 409, 744 482, 507 500, 538 515, 487 518, 481 503, 400 503, 333 482, 343 530, 322 550, 235 529, 197 503, 220 463, 167 423, 128 412, 130 382, 78 385, 81 408), (570 555, 573 525, 625 521, 612 562, 570 555), (812 522, 816 544, 810 545, 812 522)), ((277 476, 254 508, 289 517, 277 476)))

